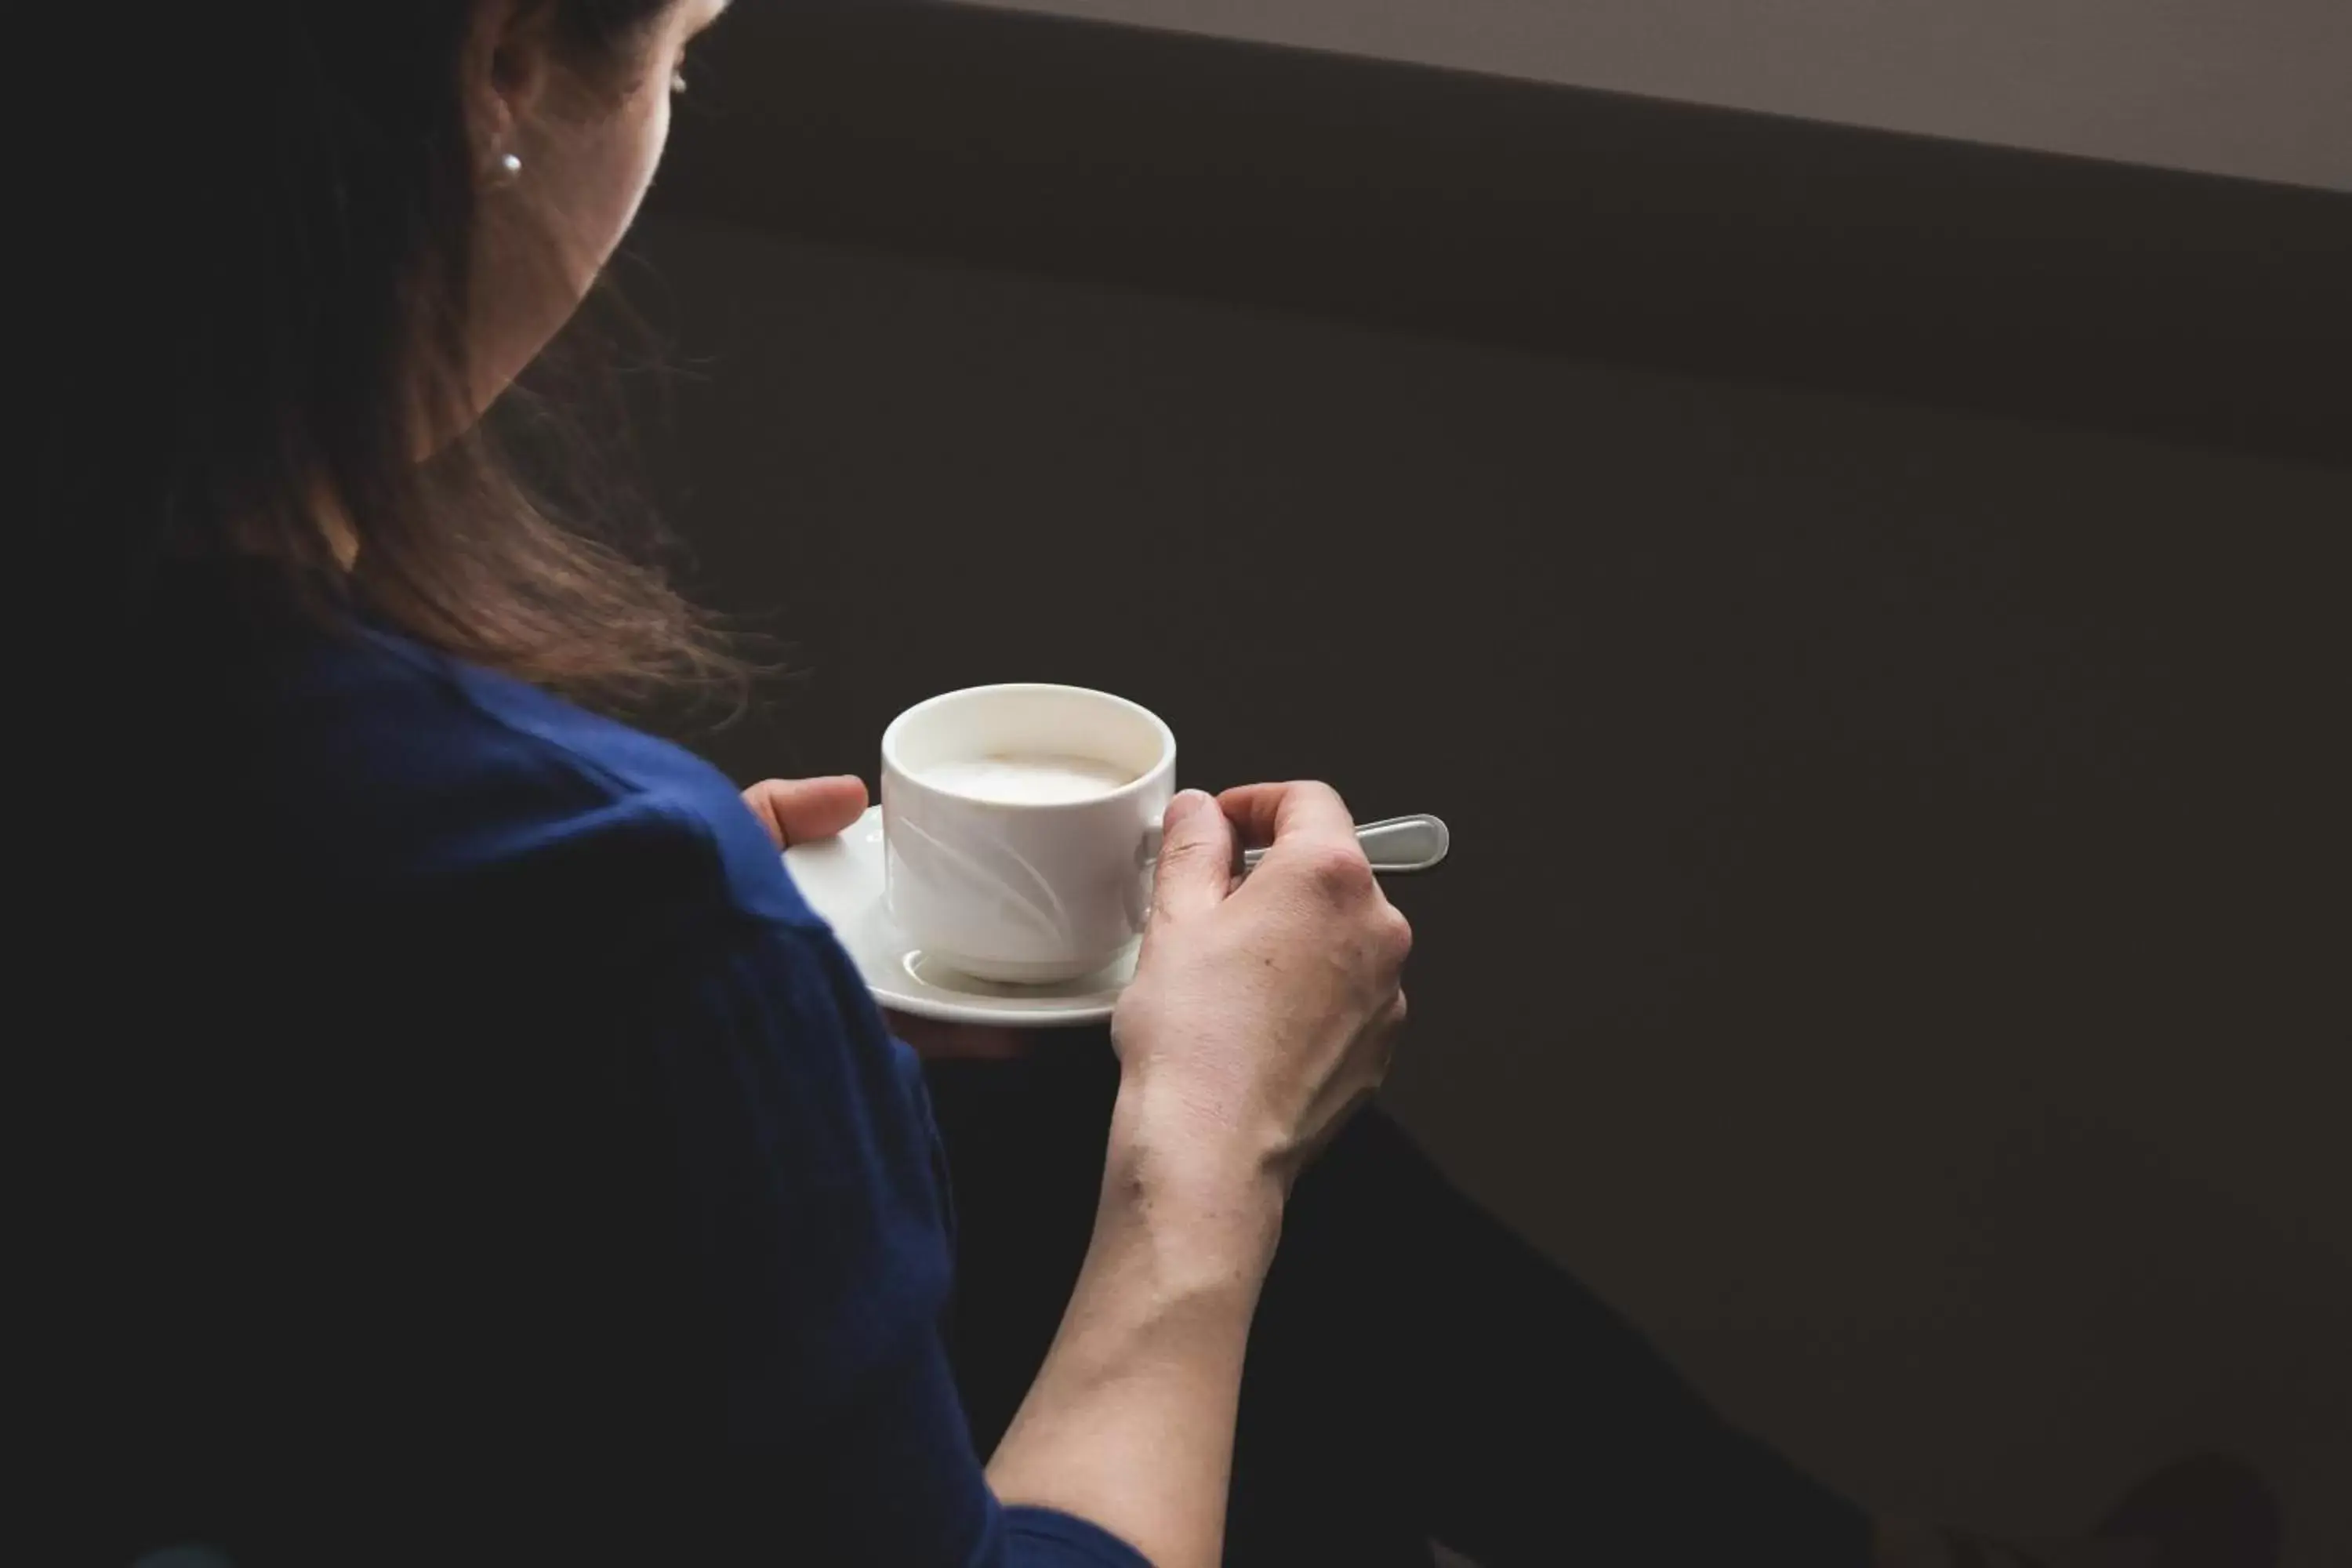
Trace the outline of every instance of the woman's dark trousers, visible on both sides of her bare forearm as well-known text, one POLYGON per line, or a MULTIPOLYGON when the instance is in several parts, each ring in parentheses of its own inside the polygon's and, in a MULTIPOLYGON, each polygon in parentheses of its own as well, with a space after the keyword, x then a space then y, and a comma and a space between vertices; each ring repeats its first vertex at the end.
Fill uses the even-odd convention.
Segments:
MULTIPOLYGON (((950 1345, 995 1448, 1094 1227, 1117 1065, 1058 1037, 929 1067, 957 1213, 950 1345)), ((1860 1568, 1860 1509, 1729 1427, 1616 1312, 1378 1112, 1298 1182, 1242 1375, 1225 1561, 1860 1568)))

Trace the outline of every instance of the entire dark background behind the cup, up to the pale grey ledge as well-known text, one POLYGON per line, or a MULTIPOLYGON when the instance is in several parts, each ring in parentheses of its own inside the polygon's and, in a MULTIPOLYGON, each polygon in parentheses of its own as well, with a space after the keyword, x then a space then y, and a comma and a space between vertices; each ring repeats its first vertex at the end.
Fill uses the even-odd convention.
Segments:
MULTIPOLYGON (((1519 183, 1449 207, 1432 153, 1383 195, 1315 127, 1444 146, 1437 99, 1381 118, 1402 75, 1251 118, 1279 59, 1249 54, 1216 78, 1242 108, 1152 143, 1200 158, 1110 179, 1028 155, 1051 82, 833 47, 790 68, 830 89, 682 129, 630 268, 684 367, 661 489, 797 670, 696 743, 870 778, 906 703, 1068 679, 1162 712, 1185 783, 1439 811, 1456 858, 1397 889, 1392 1105, 1736 1415, 1870 1502, 2011 1528, 2237 1446, 2298 1561, 2340 1561, 2345 205, 1578 99, 1689 169, 1755 132, 1740 158, 1844 174, 1729 216, 1670 181, 1609 247, 1623 310, 1564 310, 1524 247, 1639 226, 1644 186, 1526 219, 1531 129, 1519 183), (1249 136, 1324 223, 1218 195, 1249 136), (2004 228, 2058 209, 2091 216, 2004 228), (1444 242, 1374 247, 1404 230, 1444 242), (1717 266, 1642 292, 1700 237, 1717 266)), ((1084 125, 1136 153, 1162 122, 1084 125)))

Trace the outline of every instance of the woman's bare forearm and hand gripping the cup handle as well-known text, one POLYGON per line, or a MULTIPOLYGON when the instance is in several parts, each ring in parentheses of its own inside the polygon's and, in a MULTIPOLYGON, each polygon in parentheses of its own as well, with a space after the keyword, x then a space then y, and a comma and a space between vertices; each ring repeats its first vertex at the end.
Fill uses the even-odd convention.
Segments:
POLYGON ((1007 1502, 1162 1568, 1223 1556, 1249 1316, 1308 1157, 1378 1086, 1411 931, 1324 785, 1169 804, 1110 1037, 1120 1103, 1087 1267, 988 1462, 1007 1502), (1237 882, 1235 849, 1268 844, 1237 882))

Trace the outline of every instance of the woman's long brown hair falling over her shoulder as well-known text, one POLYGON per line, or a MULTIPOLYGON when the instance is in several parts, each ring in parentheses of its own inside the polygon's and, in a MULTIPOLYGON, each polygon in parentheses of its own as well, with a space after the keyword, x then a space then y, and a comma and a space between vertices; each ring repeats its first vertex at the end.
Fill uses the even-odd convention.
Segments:
MULTIPOLYGON (((567 71, 626 92, 673 2, 536 7, 567 71)), ((358 607, 579 696, 736 682, 713 623, 652 564, 659 541, 604 503, 609 442, 564 409, 588 334, 414 456, 419 388, 447 404, 468 386, 485 160, 461 61, 477 0, 45 9, 68 14, 45 66, 106 89, 103 113, 56 122, 78 158, 33 181, 21 226, 40 320, 19 353, 35 343, 47 395, 35 548, 68 583, 52 590, 132 618, 169 557, 235 552, 275 562, 327 616, 358 607), (82 155, 87 136, 120 155, 82 155), (348 576, 322 512, 358 536, 348 576)))

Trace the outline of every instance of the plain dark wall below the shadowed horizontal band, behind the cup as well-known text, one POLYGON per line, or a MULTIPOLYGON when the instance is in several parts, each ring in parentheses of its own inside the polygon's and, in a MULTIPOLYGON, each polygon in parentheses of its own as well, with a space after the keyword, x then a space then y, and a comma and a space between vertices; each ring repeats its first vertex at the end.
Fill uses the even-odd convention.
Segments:
POLYGON ((2352 475, 640 249, 666 487, 802 670, 724 766, 1070 679, 1439 811, 1395 1103, 1738 1415, 2027 1528, 2241 1446, 2352 1542, 2352 475))

